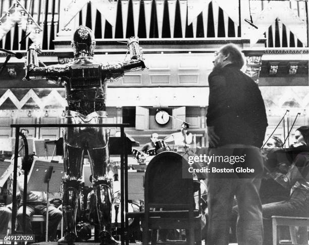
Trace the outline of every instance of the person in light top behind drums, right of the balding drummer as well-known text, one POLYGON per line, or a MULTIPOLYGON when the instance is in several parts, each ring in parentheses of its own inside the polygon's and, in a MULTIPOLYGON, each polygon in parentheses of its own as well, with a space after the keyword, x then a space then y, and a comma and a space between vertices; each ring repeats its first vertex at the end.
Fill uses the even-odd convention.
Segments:
POLYGON ((180 132, 173 133, 167 136, 164 141, 165 142, 173 142, 175 146, 177 146, 177 152, 185 152, 186 148, 190 147, 192 144, 193 136, 188 132, 189 125, 183 123, 180 128, 180 132))

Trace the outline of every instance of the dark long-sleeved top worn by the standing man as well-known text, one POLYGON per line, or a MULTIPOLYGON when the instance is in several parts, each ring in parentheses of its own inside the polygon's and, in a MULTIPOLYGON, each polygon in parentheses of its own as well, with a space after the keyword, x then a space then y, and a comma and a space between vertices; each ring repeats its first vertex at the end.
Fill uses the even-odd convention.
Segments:
POLYGON ((268 124, 258 85, 233 64, 214 70, 208 81, 207 126, 215 127, 220 145, 261 147, 268 124))

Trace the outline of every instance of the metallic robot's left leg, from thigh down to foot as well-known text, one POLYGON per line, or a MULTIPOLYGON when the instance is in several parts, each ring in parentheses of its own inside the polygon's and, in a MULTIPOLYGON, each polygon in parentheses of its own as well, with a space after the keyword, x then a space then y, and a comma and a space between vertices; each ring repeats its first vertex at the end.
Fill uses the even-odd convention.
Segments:
POLYGON ((63 217, 65 222, 65 236, 58 240, 58 244, 74 244, 76 235, 76 214, 80 193, 80 177, 82 169, 83 150, 64 144, 65 177, 63 179, 63 217))

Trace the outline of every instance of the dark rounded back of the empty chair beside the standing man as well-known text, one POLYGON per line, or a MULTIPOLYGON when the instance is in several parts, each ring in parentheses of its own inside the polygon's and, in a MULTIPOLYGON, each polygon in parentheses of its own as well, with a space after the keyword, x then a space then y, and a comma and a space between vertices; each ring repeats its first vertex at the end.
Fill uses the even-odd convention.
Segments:
POLYGON ((194 209, 193 179, 183 178, 183 162, 187 164, 172 151, 162 152, 149 162, 145 172, 145 211, 194 209))

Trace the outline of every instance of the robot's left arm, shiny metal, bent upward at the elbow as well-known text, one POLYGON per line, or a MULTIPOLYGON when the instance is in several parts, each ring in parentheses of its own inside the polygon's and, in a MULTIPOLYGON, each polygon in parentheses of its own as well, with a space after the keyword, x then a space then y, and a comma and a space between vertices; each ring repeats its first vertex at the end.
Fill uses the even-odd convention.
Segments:
POLYGON ((60 83, 60 78, 66 76, 69 68, 66 65, 51 65, 40 67, 37 53, 41 49, 35 44, 31 44, 27 50, 27 59, 25 64, 26 80, 48 79, 60 83))

